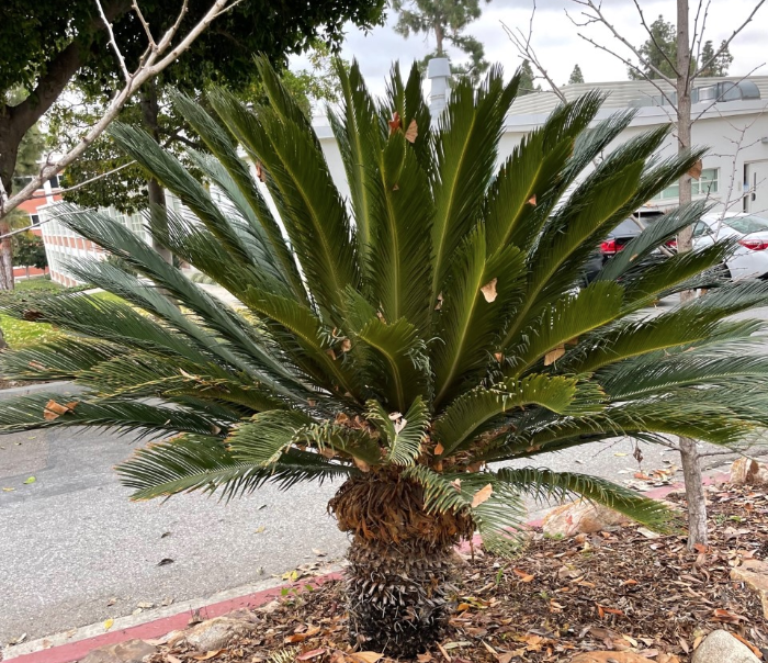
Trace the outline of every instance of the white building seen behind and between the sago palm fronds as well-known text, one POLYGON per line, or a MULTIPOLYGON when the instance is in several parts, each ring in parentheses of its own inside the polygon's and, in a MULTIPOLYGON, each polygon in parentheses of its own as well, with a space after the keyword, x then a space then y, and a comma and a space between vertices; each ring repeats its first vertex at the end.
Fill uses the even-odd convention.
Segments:
MULTIPOLYGON (((432 108, 439 109, 444 102, 447 79, 439 67, 431 68, 430 74, 434 92, 432 108)), ((666 88, 664 83, 660 85, 666 88)), ((608 94, 598 120, 622 109, 636 111, 634 120, 614 145, 674 121, 671 106, 647 81, 579 83, 566 86, 562 92, 566 99, 573 100, 596 88, 608 94)), ((665 94, 674 99, 670 88, 665 90, 665 94)), ((701 177, 693 181, 693 198, 709 198, 721 210, 726 206, 734 212, 768 212, 768 76, 698 79, 693 97, 692 116, 697 119, 692 127, 693 145, 709 147, 701 177)), ((516 100, 507 116, 499 159, 509 156, 527 133, 541 126, 557 103, 558 99, 553 92, 533 93, 516 100)), ((341 157, 330 126, 319 121, 315 123, 315 130, 339 189, 348 193, 341 157)), ((660 156, 671 156, 676 151, 677 139, 671 133, 662 147, 660 156)), ((677 199, 675 184, 647 201, 647 206, 668 210, 677 204, 677 199)), ((179 210, 178 200, 169 196, 168 201, 169 205, 179 210)), ((48 211, 47 206, 41 209, 41 221, 49 218, 48 211)), ((114 210, 106 213, 149 240, 140 215, 126 216, 114 210)), ((61 273, 63 260, 103 256, 98 247, 56 221, 47 221, 42 227, 50 274, 55 281, 67 285, 75 283, 61 273)))

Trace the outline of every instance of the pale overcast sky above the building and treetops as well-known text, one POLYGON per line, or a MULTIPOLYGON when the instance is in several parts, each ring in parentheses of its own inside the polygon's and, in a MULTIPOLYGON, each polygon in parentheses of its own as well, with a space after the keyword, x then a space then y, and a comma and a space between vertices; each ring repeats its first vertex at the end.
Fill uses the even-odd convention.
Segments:
MULTIPOLYGON (((756 0, 711 0, 704 38, 715 44, 727 38, 754 9, 756 0)), ((467 30, 485 46, 486 58, 490 63, 501 63, 507 75, 520 65, 520 58, 509 42, 501 22, 510 29, 519 27, 528 32, 533 0, 492 0, 483 4, 483 15, 467 30)), ((646 22, 652 23, 659 14, 667 21, 675 21, 675 0, 640 0, 646 22)), ((691 0, 691 24, 698 7, 691 0)), ((633 0, 603 0, 603 14, 617 30, 634 45, 647 37, 640 22, 633 0)), ((631 54, 612 38, 607 29, 592 25, 576 27, 565 13, 579 18, 580 7, 572 0, 538 0, 533 21, 532 44, 542 64, 550 70, 558 85, 565 83, 575 64, 581 67, 586 82, 626 80, 626 67, 612 56, 596 49, 584 42, 578 32, 596 42, 610 45, 622 56, 631 54)), ((404 38, 396 34, 393 25, 396 15, 389 10, 387 24, 376 27, 368 35, 350 26, 343 47, 343 57, 357 58, 362 67, 369 87, 377 94, 384 91, 384 78, 395 59, 410 63, 434 49, 434 37, 425 42, 423 35, 404 38)), ((731 46, 734 56, 730 72, 746 75, 756 67, 756 74, 767 75, 768 67, 761 66, 768 59, 768 5, 761 8, 755 20, 741 33, 731 46)), ((456 61, 461 59, 456 54, 456 61)), ((302 59, 294 59, 293 66, 301 66, 302 59)), ((546 88, 544 83, 542 87, 546 88)))

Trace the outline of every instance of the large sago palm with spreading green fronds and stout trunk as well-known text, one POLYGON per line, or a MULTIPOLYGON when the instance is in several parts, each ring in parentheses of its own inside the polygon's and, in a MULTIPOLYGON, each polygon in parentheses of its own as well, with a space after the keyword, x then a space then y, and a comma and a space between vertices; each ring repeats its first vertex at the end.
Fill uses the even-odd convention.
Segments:
POLYGON ((602 99, 587 94, 499 166, 517 78, 505 85, 493 69, 477 90, 460 85, 434 122, 416 68, 407 80, 395 68, 376 101, 352 66, 330 114, 347 200, 309 122, 259 67, 268 105, 218 90, 214 117, 176 97, 206 146, 190 150, 204 182, 148 135, 112 130, 185 205, 155 211, 156 240, 244 307, 223 305, 114 221, 60 209, 143 279, 71 263, 122 301, 68 294, 5 308, 72 333, 4 353, 5 375, 83 391, 71 403, 5 401, 3 430, 155 438, 117 469, 135 499, 339 481, 329 509, 351 536, 350 637, 410 656, 447 622, 452 547, 475 531, 507 546, 527 494, 667 521, 663 506, 608 481, 499 461, 623 435, 729 445, 766 423, 768 359, 750 348, 761 324, 729 317, 764 305, 767 284, 650 308, 710 282, 731 250, 653 259, 701 204, 655 222, 583 285, 601 238, 700 158, 654 157, 666 128, 605 156, 632 113, 598 121, 602 99))

